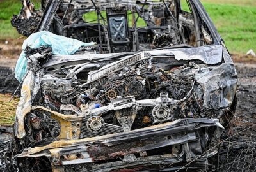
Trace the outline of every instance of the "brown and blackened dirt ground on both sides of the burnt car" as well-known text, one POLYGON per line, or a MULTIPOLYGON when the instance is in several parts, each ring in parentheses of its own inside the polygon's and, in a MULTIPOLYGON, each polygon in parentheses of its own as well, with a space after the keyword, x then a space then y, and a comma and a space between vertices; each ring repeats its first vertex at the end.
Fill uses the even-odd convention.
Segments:
MULTIPOLYGON (((4 101, 0 102, 1 109, 7 100, 6 95, 10 97, 10 93, 13 93, 19 85, 13 76, 13 67, 21 49, 19 43, 13 50, 8 50, 8 45, 4 43, 0 43, 0 48, 0 99, 4 101)), ((219 171, 255 171, 256 57, 254 59, 241 55, 234 55, 233 57, 239 77, 236 93, 237 108, 234 118, 230 122, 230 127, 225 130, 221 136, 221 143, 218 145, 220 147, 219 171)), ((20 92, 17 93, 17 96, 19 94, 20 92)), ((17 99, 14 103, 17 104, 17 99)), ((14 110, 15 108, 12 108, 10 113, 14 114, 14 110)), ((0 111, 0 113, 3 112, 0 111)))

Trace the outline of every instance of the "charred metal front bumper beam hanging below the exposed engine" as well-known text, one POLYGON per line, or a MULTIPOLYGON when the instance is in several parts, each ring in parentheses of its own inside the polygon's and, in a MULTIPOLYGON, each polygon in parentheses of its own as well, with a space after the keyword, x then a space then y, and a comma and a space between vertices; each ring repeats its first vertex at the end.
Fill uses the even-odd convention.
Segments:
MULTIPOLYGON (((167 167, 170 163, 177 164, 185 159, 189 162, 202 154, 206 146, 202 144, 207 143, 207 141, 199 141, 196 136, 207 134, 202 131, 205 127, 209 129, 217 127, 216 134, 221 134, 223 130, 221 125, 214 120, 177 120, 176 122, 130 131, 129 133, 111 134, 92 139, 62 141, 60 143, 51 143, 47 147, 31 148, 28 152, 19 155, 19 162, 22 163, 22 166, 26 166, 29 162, 25 163, 22 159, 45 156, 40 152, 47 150, 51 152, 50 160, 54 169, 58 169, 58 167, 68 169, 69 165, 79 164, 81 168, 84 167, 87 170, 95 171, 101 169, 109 171, 110 169, 124 168, 124 166, 143 165, 148 162, 158 164, 159 162, 157 161, 168 159, 164 163, 167 167), (141 140, 145 141, 141 142, 141 140), (179 154, 175 153, 173 145, 179 145, 177 147, 178 150, 180 149, 179 154), (155 155, 159 154, 157 151, 161 152, 165 147, 169 148, 169 150, 165 150, 162 155, 155 155), (123 160, 120 161, 118 157, 123 160), (113 159, 115 165, 111 162, 104 163, 107 159, 113 159), (90 163, 92 162, 98 165, 91 166, 90 163), (103 164, 99 164, 99 162, 103 162, 103 164)), ((217 138, 212 138, 212 140, 215 139, 217 138)), ((216 152, 213 150, 208 155, 214 154, 216 152)), ((205 157, 200 159, 200 161, 205 160, 205 157)))

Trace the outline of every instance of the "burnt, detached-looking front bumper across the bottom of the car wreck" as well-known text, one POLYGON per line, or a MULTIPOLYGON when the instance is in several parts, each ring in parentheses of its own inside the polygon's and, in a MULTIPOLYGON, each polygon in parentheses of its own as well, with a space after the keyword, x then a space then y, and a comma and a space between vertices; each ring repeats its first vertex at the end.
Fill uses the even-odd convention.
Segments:
POLYGON ((126 133, 54 141, 18 155, 20 171, 154 171, 210 166, 223 132, 218 120, 180 119, 126 133), (187 168, 185 166, 185 168, 187 168))

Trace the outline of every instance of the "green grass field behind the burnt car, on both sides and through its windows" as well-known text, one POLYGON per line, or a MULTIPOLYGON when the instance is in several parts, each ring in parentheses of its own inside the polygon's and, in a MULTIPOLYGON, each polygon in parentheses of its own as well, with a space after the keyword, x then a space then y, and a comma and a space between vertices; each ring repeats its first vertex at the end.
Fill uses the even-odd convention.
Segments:
MULTIPOLYGON (((202 0, 202 3, 230 52, 244 54, 251 48, 256 51, 255 0, 202 0)), ((10 20, 13 14, 19 13, 20 8, 20 0, 0 0, 0 40, 19 38, 10 20)), ((87 22, 95 20, 95 17, 84 16, 87 22)), ((129 21, 131 24, 132 15, 129 15, 129 21)), ((144 25, 141 19, 138 22, 139 26, 144 25)))

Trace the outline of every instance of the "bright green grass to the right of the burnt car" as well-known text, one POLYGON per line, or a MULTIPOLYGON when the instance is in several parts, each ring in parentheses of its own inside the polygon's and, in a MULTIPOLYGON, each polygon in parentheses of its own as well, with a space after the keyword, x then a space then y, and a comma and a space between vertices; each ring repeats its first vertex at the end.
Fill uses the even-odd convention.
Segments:
POLYGON ((256 51, 256 6, 203 4, 230 52, 256 51))

